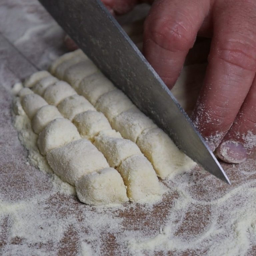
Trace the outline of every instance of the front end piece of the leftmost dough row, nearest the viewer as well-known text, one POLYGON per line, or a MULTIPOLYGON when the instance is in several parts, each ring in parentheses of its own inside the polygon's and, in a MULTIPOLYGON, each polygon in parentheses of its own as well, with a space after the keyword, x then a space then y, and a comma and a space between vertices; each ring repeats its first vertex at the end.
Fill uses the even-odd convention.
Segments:
POLYGON ((75 183, 77 197, 86 204, 121 204, 128 201, 121 175, 105 168, 82 176, 75 183))

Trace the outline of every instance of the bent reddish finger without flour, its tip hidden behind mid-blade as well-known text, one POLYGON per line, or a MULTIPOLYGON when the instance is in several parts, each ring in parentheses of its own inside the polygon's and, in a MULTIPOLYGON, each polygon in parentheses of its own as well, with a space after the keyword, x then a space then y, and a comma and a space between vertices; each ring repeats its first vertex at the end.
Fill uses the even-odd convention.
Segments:
POLYGON ((209 0, 156 0, 144 23, 143 53, 168 87, 209 11, 209 0))

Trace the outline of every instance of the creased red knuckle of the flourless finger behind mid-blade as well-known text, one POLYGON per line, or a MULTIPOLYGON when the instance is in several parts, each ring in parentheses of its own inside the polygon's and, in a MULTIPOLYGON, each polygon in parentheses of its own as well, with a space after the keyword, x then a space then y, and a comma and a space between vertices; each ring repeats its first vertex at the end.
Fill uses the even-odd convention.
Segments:
POLYGON ((184 21, 146 20, 144 31, 148 38, 168 51, 187 51, 194 42, 189 24, 184 21))

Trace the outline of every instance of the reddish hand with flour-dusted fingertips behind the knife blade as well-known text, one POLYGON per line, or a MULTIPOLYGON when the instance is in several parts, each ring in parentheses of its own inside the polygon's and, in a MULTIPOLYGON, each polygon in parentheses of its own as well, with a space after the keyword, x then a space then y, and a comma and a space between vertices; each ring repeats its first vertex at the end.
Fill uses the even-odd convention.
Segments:
MULTIPOLYGON (((115 15, 142 1, 102 2, 115 15)), ((152 6, 144 22, 143 54, 169 88, 196 36, 212 38, 205 79, 191 118, 222 160, 243 162, 249 153, 245 136, 256 134, 256 1, 147 2, 152 6)))

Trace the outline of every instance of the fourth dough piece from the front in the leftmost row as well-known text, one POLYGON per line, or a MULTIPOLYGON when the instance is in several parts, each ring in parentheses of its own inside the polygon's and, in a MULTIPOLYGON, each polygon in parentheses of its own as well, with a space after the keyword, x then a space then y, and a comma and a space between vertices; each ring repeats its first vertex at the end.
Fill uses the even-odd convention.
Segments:
POLYGON ((43 106, 32 119, 32 129, 36 134, 39 134, 55 118, 62 118, 59 110, 53 105, 43 106))

